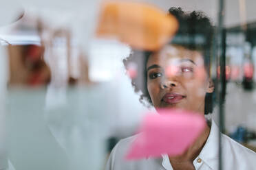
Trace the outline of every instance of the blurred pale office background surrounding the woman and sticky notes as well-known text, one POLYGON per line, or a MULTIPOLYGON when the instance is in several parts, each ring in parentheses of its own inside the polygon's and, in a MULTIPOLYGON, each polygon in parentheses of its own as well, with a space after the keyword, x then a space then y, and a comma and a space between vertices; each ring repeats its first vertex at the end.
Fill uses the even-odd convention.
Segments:
MULTIPOLYGON (((217 0, 139 2, 200 10, 218 27, 217 0)), ((131 86, 138 66, 127 72, 122 64, 132 47, 96 34, 102 3, 0 3, 0 169, 103 169, 118 140, 153 110, 131 86)), ((224 4, 224 132, 256 151, 256 1, 224 4)), ((218 122, 217 111, 211 117, 218 122)))

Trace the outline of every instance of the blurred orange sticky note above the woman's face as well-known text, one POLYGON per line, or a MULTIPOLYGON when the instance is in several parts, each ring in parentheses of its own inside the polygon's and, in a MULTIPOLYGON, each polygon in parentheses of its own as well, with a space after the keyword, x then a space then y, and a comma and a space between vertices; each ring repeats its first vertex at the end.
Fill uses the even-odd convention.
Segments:
POLYGON ((101 5, 96 35, 117 38, 134 49, 155 51, 177 30, 177 19, 155 5, 113 0, 101 5))

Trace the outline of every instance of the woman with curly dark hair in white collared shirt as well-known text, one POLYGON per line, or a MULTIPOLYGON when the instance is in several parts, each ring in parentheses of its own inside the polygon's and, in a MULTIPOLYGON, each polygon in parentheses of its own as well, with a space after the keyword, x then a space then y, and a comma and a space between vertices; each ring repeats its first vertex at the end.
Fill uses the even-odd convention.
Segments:
MULTIPOLYGON (((213 26, 202 12, 185 13, 171 8, 180 28, 169 45, 157 52, 136 52, 124 60, 140 64, 138 76, 132 80, 140 101, 158 108, 181 108, 209 114, 213 110, 214 84, 210 78, 209 60, 213 26)), ((125 160, 134 136, 121 140, 111 152, 106 169, 218 169, 218 129, 214 121, 207 122, 204 132, 182 155, 162 158, 125 160)), ((255 169, 256 154, 222 134, 223 169, 255 169), (253 161, 254 160, 254 161, 253 161)))

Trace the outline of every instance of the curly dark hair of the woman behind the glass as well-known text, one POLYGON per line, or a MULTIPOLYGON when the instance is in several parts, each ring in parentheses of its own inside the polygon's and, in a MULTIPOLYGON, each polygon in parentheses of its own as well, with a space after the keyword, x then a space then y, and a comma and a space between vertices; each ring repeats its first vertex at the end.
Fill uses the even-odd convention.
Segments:
MULTIPOLYGON (((204 67, 210 75, 211 49, 213 44, 214 27, 210 19, 203 12, 184 12, 181 8, 170 8, 169 14, 175 16, 179 23, 179 29, 169 42, 172 45, 180 45, 186 49, 201 51, 204 56, 204 67)), ((140 94, 140 102, 145 106, 153 106, 149 91, 147 90, 147 60, 154 51, 134 50, 128 58, 122 60, 125 69, 129 64, 136 63, 137 76, 131 80, 136 93, 140 94), (146 102, 145 102, 146 101, 146 102)), ((213 111, 214 93, 206 93, 204 114, 213 111)))

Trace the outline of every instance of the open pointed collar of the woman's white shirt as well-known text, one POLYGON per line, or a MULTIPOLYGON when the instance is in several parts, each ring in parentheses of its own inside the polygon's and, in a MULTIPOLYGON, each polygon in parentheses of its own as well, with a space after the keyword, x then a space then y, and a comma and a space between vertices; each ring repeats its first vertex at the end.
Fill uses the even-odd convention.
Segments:
MULTIPOLYGON (((219 159, 219 129, 216 123, 211 120, 211 131, 206 140, 202 151, 200 152, 198 158, 201 158, 202 161, 211 169, 218 169, 218 159, 219 159)), ((196 158, 197 159, 197 158, 196 158)), ((169 157, 167 154, 162 154, 162 166, 165 169, 173 169, 171 167, 171 163, 169 161, 169 157)))

